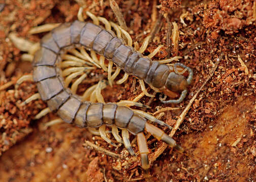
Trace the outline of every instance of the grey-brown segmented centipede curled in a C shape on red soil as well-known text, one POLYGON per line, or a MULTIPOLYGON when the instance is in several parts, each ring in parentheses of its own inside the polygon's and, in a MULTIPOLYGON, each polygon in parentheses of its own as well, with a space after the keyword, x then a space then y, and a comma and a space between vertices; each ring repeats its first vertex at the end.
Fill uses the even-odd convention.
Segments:
MULTIPOLYGON (((171 136, 147 120, 170 128, 171 126, 145 112, 125 106, 129 102, 106 104, 85 101, 67 87, 63 78, 66 73, 63 73, 60 67, 63 54, 68 50, 83 47, 114 63, 126 75, 133 75, 140 81, 145 81, 167 96, 172 92, 181 93, 176 100, 161 100, 164 104, 183 101, 187 94, 186 87, 193 79, 191 68, 181 63, 169 67, 152 61, 127 45, 124 39, 116 36, 110 29, 106 30, 100 25, 79 20, 54 28, 41 39, 40 44, 41 47, 33 60, 33 80, 37 84, 40 98, 47 103, 49 110, 56 112, 63 121, 88 128, 93 134, 100 135, 107 143, 117 147, 106 134, 106 126, 110 127, 116 141, 123 143, 127 151, 135 156, 129 140, 129 132, 132 133, 137 138, 141 166, 145 173, 148 173, 150 168, 145 131, 179 152, 184 151, 171 136), (184 71, 180 72, 181 69, 188 72, 187 78, 184 71), (118 129, 121 130, 121 136, 118 129)), ((87 68, 83 69, 82 72, 87 68)), ((132 102, 132 105, 142 106, 136 102, 132 102)))

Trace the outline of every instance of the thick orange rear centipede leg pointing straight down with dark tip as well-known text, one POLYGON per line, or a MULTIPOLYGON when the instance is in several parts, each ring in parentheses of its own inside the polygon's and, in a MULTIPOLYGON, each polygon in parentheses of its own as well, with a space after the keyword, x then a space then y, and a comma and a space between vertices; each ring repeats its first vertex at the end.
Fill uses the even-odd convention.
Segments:
POLYGON ((148 150, 147 141, 143 132, 140 132, 137 134, 137 143, 139 147, 139 153, 141 155, 141 166, 145 170, 145 174, 148 176, 149 175, 148 169, 150 167, 149 160, 148 160, 149 150, 148 150))

